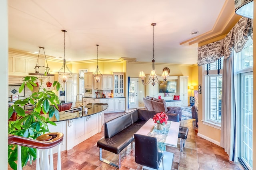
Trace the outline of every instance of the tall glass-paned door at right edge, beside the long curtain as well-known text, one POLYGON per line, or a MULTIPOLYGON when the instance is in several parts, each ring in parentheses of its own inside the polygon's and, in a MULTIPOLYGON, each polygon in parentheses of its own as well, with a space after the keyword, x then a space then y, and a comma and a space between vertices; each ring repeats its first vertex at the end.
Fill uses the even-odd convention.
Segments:
MULTIPOLYGON (((242 73, 240 77, 240 159, 252 168, 252 107, 253 107, 253 75, 242 73)), ((238 112, 239 113, 239 112, 238 112)), ((238 138, 239 139, 239 138, 238 138)))

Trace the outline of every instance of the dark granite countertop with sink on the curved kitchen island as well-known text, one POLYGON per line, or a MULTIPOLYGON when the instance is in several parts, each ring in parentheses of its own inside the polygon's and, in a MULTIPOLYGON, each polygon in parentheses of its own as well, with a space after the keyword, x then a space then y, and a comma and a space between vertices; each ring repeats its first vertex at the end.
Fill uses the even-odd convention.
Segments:
MULTIPOLYGON (((82 107, 76 107, 70 110, 61 111, 59 121, 68 121, 72 119, 78 119, 81 117, 88 117, 94 115, 96 113, 100 113, 108 108, 108 103, 88 103, 85 105, 85 109, 87 108, 87 113, 82 114, 82 107), (76 111, 78 110, 78 111, 76 111)), ((44 117, 49 118, 49 115, 46 114, 44 117)), ((55 116, 53 116, 49 121, 57 122, 55 116)))

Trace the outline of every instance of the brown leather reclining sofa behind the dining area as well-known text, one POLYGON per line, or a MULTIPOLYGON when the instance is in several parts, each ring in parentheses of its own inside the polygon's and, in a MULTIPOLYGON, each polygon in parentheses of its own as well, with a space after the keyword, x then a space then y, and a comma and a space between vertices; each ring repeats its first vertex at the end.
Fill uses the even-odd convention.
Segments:
POLYGON ((143 97, 145 109, 148 111, 174 113, 179 115, 181 120, 182 110, 181 107, 167 107, 164 99, 156 99, 155 97, 143 97))

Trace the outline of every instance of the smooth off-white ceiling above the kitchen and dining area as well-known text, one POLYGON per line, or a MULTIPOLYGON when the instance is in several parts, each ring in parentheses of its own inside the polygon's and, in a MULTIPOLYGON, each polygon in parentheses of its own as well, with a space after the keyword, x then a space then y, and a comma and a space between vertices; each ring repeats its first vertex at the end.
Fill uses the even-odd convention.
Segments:
POLYGON ((9 0, 9 47, 67 61, 136 58, 151 62, 155 22, 157 63, 195 64, 197 44, 213 29, 225 0, 9 0))

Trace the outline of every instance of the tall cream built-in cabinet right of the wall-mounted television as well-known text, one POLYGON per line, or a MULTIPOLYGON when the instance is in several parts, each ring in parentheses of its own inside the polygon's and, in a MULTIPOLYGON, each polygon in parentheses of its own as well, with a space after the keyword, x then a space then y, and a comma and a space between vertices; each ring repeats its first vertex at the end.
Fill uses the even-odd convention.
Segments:
POLYGON ((180 106, 188 106, 188 76, 179 77, 180 106))

